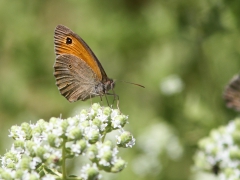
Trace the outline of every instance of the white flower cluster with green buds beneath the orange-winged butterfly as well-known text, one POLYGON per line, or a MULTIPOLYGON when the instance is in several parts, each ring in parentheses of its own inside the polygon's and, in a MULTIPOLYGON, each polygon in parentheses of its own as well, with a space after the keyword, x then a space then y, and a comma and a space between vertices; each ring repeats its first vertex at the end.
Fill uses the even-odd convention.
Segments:
POLYGON ((100 179, 100 170, 119 172, 126 162, 117 157, 118 147, 135 143, 123 130, 127 119, 117 109, 93 104, 75 117, 12 126, 9 136, 15 141, 1 157, 0 179, 66 179, 65 160, 79 155, 87 155, 91 162, 79 172, 83 180, 100 179), (104 142, 106 134, 116 129, 120 132, 116 145, 104 142))

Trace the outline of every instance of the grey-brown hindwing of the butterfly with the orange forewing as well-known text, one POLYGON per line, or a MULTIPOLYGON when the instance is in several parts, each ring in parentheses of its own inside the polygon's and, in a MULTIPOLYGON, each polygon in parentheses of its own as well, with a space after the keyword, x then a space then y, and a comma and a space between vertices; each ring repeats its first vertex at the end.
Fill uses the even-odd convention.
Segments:
POLYGON ((60 93, 70 102, 96 96, 94 87, 100 82, 85 61, 74 55, 59 55, 54 70, 60 93))

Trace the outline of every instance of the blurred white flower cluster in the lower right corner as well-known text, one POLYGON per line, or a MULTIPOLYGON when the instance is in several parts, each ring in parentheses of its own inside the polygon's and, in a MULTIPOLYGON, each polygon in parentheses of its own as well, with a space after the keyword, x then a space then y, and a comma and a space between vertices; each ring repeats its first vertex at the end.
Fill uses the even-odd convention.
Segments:
POLYGON ((212 172, 220 180, 240 179, 240 119, 200 140, 194 161, 196 169, 212 172))

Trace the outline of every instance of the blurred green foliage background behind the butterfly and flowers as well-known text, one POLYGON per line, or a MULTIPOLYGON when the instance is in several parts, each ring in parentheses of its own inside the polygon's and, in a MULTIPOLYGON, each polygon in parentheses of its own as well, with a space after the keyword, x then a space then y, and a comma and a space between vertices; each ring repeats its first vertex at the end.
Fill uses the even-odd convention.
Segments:
POLYGON ((55 85, 58 24, 88 43, 110 78, 146 86, 117 81, 137 140, 121 151, 128 167, 103 179, 202 179, 192 170, 197 141, 236 116, 222 93, 240 67, 240 1, 1 0, 1 154, 12 125, 66 118, 91 105, 69 103, 55 85))

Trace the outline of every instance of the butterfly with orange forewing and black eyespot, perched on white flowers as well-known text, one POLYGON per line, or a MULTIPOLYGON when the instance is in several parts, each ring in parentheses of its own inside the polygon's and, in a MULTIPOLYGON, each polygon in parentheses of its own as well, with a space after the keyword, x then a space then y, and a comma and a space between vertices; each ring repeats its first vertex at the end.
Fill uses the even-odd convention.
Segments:
POLYGON ((84 42, 69 28, 58 25, 54 32, 56 61, 54 76, 60 93, 70 102, 114 95, 115 82, 108 78, 101 63, 84 42))

